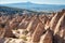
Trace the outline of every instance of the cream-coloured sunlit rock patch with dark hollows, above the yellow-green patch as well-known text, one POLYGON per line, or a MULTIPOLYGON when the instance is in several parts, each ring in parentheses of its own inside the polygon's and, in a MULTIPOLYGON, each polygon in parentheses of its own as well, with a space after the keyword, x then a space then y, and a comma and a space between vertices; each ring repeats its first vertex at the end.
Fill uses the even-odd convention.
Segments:
POLYGON ((17 29, 17 30, 12 30, 13 34, 16 38, 26 38, 26 34, 28 33, 26 29, 17 29))

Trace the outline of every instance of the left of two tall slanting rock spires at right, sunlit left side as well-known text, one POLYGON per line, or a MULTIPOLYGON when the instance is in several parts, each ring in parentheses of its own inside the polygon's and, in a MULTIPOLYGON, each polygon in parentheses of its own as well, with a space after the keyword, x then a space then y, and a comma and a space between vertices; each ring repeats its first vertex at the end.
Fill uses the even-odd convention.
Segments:
POLYGON ((54 28, 55 28, 55 26, 56 26, 56 24, 57 24, 57 22, 58 22, 58 19, 61 18, 61 16, 62 16, 63 14, 61 14, 61 13, 56 13, 53 17, 52 17, 52 19, 51 19, 51 22, 50 22, 50 29, 51 30, 53 30, 54 31, 54 28))

